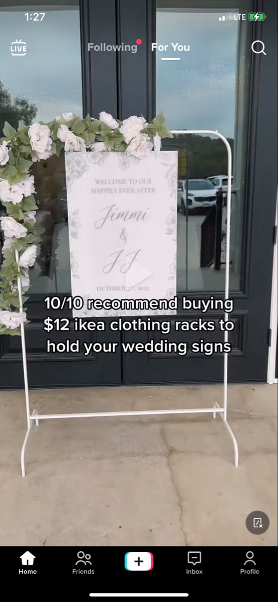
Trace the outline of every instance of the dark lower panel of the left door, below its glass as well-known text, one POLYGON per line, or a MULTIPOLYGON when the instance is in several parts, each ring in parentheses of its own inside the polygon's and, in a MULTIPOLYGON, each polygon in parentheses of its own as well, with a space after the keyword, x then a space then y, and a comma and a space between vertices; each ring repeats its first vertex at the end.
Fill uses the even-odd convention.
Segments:
MULTIPOLYGON (((28 381, 31 388, 101 386, 121 384, 121 349, 119 333, 57 332, 47 333, 42 321, 32 320, 25 328, 28 381), (63 343, 80 341, 80 353, 46 352, 46 340, 63 343), (82 342, 119 343, 115 353, 94 353, 84 357, 82 342)), ((0 339, 0 383, 2 389, 23 388, 20 337, 0 339)))

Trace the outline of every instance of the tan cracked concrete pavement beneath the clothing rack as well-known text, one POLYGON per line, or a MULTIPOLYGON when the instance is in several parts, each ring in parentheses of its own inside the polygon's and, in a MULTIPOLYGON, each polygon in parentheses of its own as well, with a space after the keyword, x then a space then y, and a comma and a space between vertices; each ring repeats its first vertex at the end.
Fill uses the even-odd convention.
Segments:
MULTIPOLYGON (((223 387, 31 391, 39 412, 208 407, 223 387)), ((277 545, 277 386, 229 385, 229 421, 212 415, 41 421, 26 477, 22 391, 0 393, 1 545, 277 545), (246 529, 263 510, 270 528, 246 529)))

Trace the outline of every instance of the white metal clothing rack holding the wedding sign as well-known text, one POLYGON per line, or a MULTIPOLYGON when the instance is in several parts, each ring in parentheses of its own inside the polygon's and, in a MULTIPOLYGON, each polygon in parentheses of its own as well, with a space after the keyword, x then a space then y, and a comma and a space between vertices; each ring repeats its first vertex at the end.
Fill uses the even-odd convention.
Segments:
MULTIPOLYGON (((232 187, 232 151, 230 144, 227 139, 219 132, 210 129, 181 129, 171 130, 172 134, 214 134, 223 140, 227 149, 227 232, 226 232, 226 274, 225 274, 225 299, 229 298, 229 266, 230 266, 230 202, 231 202, 231 187, 232 187)), ((16 251, 16 261, 19 265, 19 253, 16 251)), ((22 288, 20 276, 17 279, 17 287, 19 293, 19 310, 23 311, 22 303, 22 288)), ((227 321, 228 314, 224 313, 224 321, 227 321)), ((216 418, 217 414, 223 420, 223 423, 232 438, 235 466, 238 466, 238 445, 236 442, 235 435, 227 422, 227 364, 228 364, 228 353, 224 353, 224 382, 223 382, 223 406, 220 407, 218 403, 214 404, 213 408, 196 408, 196 409, 172 409, 172 410, 141 410, 135 412, 85 412, 77 414, 38 414, 34 409, 31 411, 29 402, 29 388, 28 388, 28 373, 27 373, 27 361, 26 361, 26 346, 25 346, 25 331, 24 324, 20 324, 21 330, 21 341, 22 341, 22 360, 23 360, 23 374, 24 374, 24 387, 25 387, 25 403, 26 403, 26 418, 27 418, 27 430, 25 439, 23 441, 21 450, 21 472, 22 477, 25 477, 25 448, 28 441, 29 433, 34 422, 39 426, 39 420, 52 420, 55 418, 104 418, 114 416, 152 416, 152 415, 165 415, 165 414, 212 414, 216 418)), ((228 332, 224 332, 224 342, 228 340, 228 332)))

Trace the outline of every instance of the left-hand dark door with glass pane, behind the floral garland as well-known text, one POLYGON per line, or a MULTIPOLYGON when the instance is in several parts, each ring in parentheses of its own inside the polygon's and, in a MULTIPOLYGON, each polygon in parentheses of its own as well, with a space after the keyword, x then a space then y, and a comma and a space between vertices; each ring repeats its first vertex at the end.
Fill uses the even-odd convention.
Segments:
MULTIPOLYGON (((8 121, 17 127, 48 122, 63 113, 82 117, 81 32, 78 0, 0 0, 0 129, 8 121), (21 40, 25 54, 13 52, 21 40)), ((30 386, 76 386, 120 382, 120 358, 113 365, 103 354, 85 359, 80 353, 46 353, 46 340, 63 341, 63 332, 43 330, 47 315, 43 299, 71 294, 69 223, 64 155, 34 164, 41 241, 34 267, 29 270, 26 347, 30 386)), ((0 203, 1 205, 1 203, 0 203)), ((1 212, 4 213, 2 206, 1 212)), ((0 253, 1 261, 1 253, 0 253)), ((63 312, 66 317, 66 311, 63 312)), ((56 314, 57 317, 57 314, 56 314)), ((75 332, 64 338, 76 339, 75 332)), ((93 333, 80 333, 92 342, 93 333)), ((0 382, 3 387, 23 385, 19 337, 1 337, 0 382)))

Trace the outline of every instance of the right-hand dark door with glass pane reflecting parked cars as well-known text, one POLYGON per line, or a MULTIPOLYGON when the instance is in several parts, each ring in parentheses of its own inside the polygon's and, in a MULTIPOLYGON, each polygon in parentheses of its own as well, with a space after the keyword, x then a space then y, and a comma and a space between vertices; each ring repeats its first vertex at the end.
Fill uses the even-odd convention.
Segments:
MULTIPOLYGON (((164 112, 171 129, 217 130, 232 147, 230 291, 235 328, 229 335, 233 348, 229 380, 234 381, 267 379, 276 200, 276 101, 270 98, 269 90, 276 75, 273 57, 254 54, 251 46, 259 39, 273 48, 276 30, 271 22, 273 5, 268 1, 259 4, 255 7, 253 0, 239 0, 235 5, 228 0, 157 0, 152 30, 157 45, 153 64, 155 112, 164 112), (251 22, 248 15, 253 10, 265 10, 267 19, 260 25, 251 22)), ((179 152, 178 295, 223 297, 227 190, 224 144, 213 135, 179 134, 165 141, 163 148, 179 152)), ((182 309, 178 313, 178 319, 202 317, 196 312, 194 316, 185 314, 182 309)), ((206 317, 218 320, 222 316, 211 312, 206 317)), ((173 330, 173 340, 185 340, 184 334, 173 330)), ((220 332, 215 330, 214 334, 215 340, 221 340, 220 332)), ((196 336, 186 335, 188 343, 196 340, 196 336)), ((207 335, 202 333, 205 341, 214 340, 207 335)), ((219 355, 189 353, 179 358, 140 354, 137 368, 131 365, 131 357, 125 359, 127 382, 223 379, 223 357, 219 355)))

